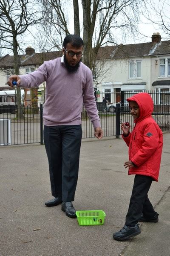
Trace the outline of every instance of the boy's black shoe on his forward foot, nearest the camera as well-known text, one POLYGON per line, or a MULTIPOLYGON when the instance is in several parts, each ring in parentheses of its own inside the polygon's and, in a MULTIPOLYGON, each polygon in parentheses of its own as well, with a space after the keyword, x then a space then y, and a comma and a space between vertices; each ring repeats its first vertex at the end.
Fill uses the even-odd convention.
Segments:
POLYGON ((120 231, 113 233, 113 238, 115 240, 126 240, 132 236, 137 236, 141 233, 139 224, 136 224, 135 227, 124 226, 120 231))

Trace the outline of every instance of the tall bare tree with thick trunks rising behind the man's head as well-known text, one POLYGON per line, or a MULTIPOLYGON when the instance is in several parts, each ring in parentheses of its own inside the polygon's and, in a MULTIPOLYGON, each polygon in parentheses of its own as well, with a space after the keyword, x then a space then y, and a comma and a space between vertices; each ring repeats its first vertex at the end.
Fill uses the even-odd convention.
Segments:
MULTIPOLYGON (((96 55, 105 44, 116 43, 117 29, 133 33, 139 19, 142 0, 73 0, 65 4, 64 0, 40 0, 46 11, 45 23, 55 26, 57 35, 63 38, 70 34, 69 15, 66 6, 74 14, 74 33, 82 33, 84 41, 83 62, 93 71, 96 66, 96 55), (79 12, 82 10, 81 17, 79 12), (49 12, 50 10, 50 12, 49 12)), ((62 40, 61 40, 62 42, 62 40)), ((61 47, 61 45, 60 45, 61 47)))

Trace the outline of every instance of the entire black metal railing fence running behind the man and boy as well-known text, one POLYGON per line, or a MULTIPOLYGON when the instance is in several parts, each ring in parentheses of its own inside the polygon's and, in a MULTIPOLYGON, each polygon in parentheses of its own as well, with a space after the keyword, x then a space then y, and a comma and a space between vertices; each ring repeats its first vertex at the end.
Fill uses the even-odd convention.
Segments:
MULTIPOLYGON (((136 92, 135 92, 136 93, 136 92)), ((112 102, 100 102, 105 93, 100 93, 96 101, 101 126, 105 137, 119 138, 120 124, 129 122, 133 129, 133 117, 130 115, 126 99, 134 92, 110 93, 112 102), (116 99, 119 100, 117 103, 116 99)), ((149 93, 149 92, 148 92, 149 93)), ((154 102, 153 118, 162 131, 170 131, 170 96, 166 93, 150 92, 154 102)), ((0 107, 0 145, 18 145, 29 143, 43 144, 43 104, 0 107)), ((94 128, 85 108, 82 111, 82 139, 93 138, 94 128)))

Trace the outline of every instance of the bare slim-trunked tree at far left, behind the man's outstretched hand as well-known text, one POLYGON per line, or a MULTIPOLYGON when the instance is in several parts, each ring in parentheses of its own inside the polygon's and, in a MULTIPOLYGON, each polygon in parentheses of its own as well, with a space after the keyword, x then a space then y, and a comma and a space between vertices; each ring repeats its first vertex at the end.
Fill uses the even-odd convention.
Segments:
MULTIPOLYGON (((1 0, 0 1, 0 33, 1 46, 14 54, 15 74, 20 74, 20 41, 26 30, 41 20, 40 12, 32 0, 1 0), (19 40, 18 40, 19 38, 19 40)), ((17 87, 17 104, 21 105, 20 87, 17 87)), ((23 118, 18 108, 18 118, 23 118)))

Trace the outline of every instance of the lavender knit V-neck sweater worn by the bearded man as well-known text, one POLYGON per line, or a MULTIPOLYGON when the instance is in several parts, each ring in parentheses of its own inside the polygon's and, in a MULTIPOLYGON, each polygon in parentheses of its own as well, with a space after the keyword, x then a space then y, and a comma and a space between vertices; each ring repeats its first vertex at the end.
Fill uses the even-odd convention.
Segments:
POLYGON ((91 70, 80 63, 76 73, 68 73, 63 57, 45 61, 37 70, 21 75, 21 87, 38 87, 46 82, 46 95, 43 111, 44 124, 79 125, 81 124, 84 103, 94 128, 100 127, 94 97, 91 70))

